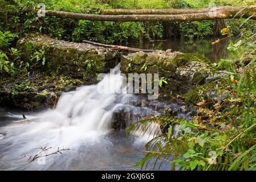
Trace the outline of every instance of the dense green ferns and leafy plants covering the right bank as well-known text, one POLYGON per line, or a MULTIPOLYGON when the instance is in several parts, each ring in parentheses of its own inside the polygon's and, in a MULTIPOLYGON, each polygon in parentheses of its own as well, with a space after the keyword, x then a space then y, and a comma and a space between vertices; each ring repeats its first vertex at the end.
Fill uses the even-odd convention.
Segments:
POLYGON ((256 169, 255 41, 255 32, 243 30, 240 39, 228 47, 234 59, 222 59, 218 67, 200 55, 181 54, 173 60, 177 65, 192 61, 208 64, 213 78, 196 85, 184 97, 197 106, 197 114, 190 121, 159 115, 136 122, 127 130, 140 135, 153 133, 155 137, 146 144, 147 155, 137 165, 147 168, 153 159, 160 166, 169 163, 171 169, 180 170, 256 169), (150 125, 159 130, 150 129, 150 125))

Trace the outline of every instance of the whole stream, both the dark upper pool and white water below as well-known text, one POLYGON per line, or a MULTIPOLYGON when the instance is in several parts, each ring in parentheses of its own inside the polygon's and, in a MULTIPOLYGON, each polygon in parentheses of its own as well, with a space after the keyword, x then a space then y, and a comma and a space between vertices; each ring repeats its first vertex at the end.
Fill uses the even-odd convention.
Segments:
MULTIPOLYGON (((173 51, 183 52, 189 52, 188 48, 191 48, 194 53, 205 53, 216 61, 216 57, 228 56, 226 48, 223 48, 225 45, 222 45, 218 55, 204 44, 198 46, 198 43, 194 43, 193 47, 185 45, 183 49, 173 42, 133 47, 172 48, 173 51)), ((178 117, 189 118, 190 113, 182 113, 181 105, 174 102, 148 101, 147 97, 128 94, 122 84, 123 77, 117 66, 98 84, 63 93, 55 109, 24 113, 26 119, 23 119, 23 113, 19 111, 0 108, 0 170, 140 169, 133 165, 145 155, 144 145, 153 137, 150 134, 152 128, 143 137, 134 134, 127 138, 125 130, 112 129, 115 114, 124 112, 123 118, 116 118, 120 119, 117 122, 125 122, 126 126, 130 126, 139 119, 161 113, 166 106, 177 110, 178 117), (117 92, 98 93, 97 86, 100 85, 108 85, 109 90, 114 88, 117 92), (48 148, 42 156, 52 154, 58 148, 65 150, 62 154, 49 155, 28 163, 42 150, 40 147, 48 148)), ((152 169, 153 165, 152 160, 147 169, 152 169)), ((160 169, 169 170, 169 163, 163 163, 160 169)))

